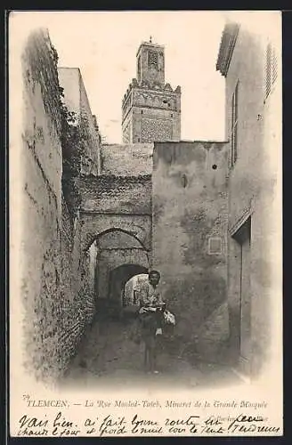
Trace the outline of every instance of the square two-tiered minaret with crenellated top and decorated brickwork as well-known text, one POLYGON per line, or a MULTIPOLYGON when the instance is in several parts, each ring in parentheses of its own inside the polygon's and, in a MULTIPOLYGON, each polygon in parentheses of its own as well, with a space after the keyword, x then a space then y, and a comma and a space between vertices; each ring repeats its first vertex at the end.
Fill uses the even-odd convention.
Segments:
POLYGON ((122 105, 123 143, 181 139, 181 87, 165 83, 165 48, 143 42, 122 105))

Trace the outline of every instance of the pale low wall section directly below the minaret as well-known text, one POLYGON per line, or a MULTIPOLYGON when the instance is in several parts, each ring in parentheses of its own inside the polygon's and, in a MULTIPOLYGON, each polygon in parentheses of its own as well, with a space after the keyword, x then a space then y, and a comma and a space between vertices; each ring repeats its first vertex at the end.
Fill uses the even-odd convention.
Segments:
POLYGON ((142 176, 152 173, 152 143, 104 144, 101 146, 101 174, 142 176))

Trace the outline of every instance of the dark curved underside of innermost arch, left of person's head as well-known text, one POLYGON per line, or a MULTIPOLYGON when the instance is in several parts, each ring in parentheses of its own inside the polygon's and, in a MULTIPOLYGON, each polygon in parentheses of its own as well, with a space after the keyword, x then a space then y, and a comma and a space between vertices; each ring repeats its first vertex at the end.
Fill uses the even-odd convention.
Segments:
POLYGON ((140 264, 123 264, 110 271, 110 300, 123 305, 123 295, 126 282, 139 274, 146 274, 148 269, 140 264))

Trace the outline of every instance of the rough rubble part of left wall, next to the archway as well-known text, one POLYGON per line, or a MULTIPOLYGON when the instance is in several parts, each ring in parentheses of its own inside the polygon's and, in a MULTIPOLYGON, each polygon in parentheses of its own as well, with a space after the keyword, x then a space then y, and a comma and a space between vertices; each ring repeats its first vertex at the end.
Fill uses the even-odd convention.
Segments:
POLYGON ((62 201, 61 222, 60 300, 54 302, 54 305, 59 305, 60 308, 56 323, 59 329, 60 371, 63 372, 75 355, 85 328, 91 323, 95 313, 96 250, 93 246, 81 255, 80 222, 76 219, 74 231, 65 199, 62 201))

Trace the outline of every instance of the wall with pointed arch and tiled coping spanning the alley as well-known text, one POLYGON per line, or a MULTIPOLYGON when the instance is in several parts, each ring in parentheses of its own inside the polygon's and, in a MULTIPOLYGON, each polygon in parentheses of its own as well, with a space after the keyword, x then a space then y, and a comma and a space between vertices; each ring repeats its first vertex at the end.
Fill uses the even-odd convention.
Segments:
POLYGON ((149 268, 151 176, 82 177, 76 185, 82 196, 82 250, 97 239, 98 295, 106 299, 112 271, 123 264, 149 268))

